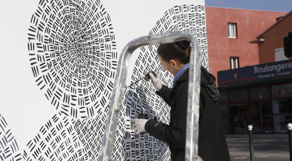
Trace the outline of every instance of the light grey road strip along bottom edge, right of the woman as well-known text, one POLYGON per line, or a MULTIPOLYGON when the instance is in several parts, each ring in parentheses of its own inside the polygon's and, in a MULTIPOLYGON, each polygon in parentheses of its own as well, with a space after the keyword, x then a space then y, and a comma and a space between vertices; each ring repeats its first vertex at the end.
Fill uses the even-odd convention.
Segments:
MULTIPOLYGON (((249 149, 229 149, 232 161, 249 161, 249 149)), ((289 161, 289 151, 281 150, 255 150, 255 161, 289 161)))

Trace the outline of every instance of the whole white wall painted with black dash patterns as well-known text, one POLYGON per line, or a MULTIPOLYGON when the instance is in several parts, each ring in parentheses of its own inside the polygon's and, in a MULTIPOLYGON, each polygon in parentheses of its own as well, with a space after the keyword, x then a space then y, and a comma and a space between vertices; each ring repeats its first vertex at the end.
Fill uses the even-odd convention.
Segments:
MULTIPOLYGON (((1 18, 0 158, 98 160, 122 48, 132 39, 190 32, 208 68, 204 1, 5 1, 1 18)), ((131 58, 127 86, 160 67, 156 46, 131 58)), ((173 76, 159 70, 163 84, 173 76)), ((168 146, 137 135, 138 113, 169 122, 149 82, 125 87, 114 160, 170 160, 168 146)))

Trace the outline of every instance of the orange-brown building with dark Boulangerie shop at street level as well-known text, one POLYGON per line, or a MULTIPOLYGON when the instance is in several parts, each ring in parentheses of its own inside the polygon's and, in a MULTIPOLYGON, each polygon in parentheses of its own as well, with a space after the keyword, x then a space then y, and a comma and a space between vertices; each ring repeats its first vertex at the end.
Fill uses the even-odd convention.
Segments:
POLYGON ((239 57, 249 65, 218 71, 226 137, 245 137, 247 125, 253 125, 254 137, 287 137, 287 124, 292 123, 292 61, 284 56, 283 38, 288 32, 292 11, 249 42, 258 49, 258 63, 239 57))

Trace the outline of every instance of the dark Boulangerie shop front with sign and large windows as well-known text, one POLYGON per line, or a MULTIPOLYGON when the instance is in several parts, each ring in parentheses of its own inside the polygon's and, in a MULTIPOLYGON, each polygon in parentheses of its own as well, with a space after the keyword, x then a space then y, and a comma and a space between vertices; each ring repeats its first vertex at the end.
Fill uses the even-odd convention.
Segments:
POLYGON ((292 123, 292 61, 218 72, 219 106, 226 137, 287 137, 292 123))

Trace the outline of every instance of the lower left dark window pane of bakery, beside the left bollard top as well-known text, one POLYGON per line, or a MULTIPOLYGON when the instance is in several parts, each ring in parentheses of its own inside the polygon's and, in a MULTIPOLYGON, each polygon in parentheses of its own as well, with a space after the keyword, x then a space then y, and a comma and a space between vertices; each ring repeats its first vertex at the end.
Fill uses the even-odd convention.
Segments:
POLYGON ((231 132, 232 133, 247 133, 248 125, 249 125, 248 117, 231 118, 231 132))

